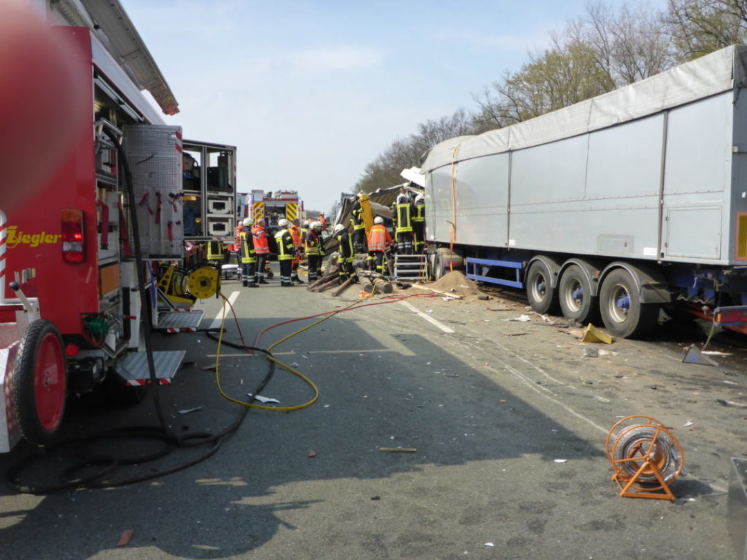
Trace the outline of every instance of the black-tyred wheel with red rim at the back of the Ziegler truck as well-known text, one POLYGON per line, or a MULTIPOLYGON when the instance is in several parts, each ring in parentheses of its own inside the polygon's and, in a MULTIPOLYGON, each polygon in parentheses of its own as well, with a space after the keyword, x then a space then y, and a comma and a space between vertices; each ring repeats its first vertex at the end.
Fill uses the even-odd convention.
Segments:
POLYGON ((61 426, 67 393, 62 337, 55 324, 28 326, 16 357, 13 405, 24 438, 35 445, 53 441, 61 426))

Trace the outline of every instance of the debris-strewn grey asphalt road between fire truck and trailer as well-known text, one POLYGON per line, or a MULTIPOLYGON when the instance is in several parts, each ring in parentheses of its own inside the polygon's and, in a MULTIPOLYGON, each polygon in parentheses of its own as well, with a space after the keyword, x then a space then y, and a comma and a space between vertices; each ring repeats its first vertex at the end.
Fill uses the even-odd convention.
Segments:
MULTIPOLYGON (((257 289, 226 281, 223 291, 235 298, 247 344, 268 326, 359 302, 354 289, 335 299, 276 280, 257 289)), ((248 411, 204 461, 111 489, 32 496, 3 488, 0 558, 737 558, 726 523, 728 459, 747 455, 747 408, 718 399, 747 402, 740 351, 714 357, 727 367, 683 364, 681 346, 701 335, 671 329, 646 342, 580 344, 558 322, 508 320, 526 314, 524 305, 495 296, 365 302, 382 305, 335 314, 273 348, 317 386, 314 404, 248 411), (586 347, 613 353, 588 358, 586 347), (617 495, 605 437, 630 414, 660 420, 681 441, 675 501, 617 495), (126 531, 128 544, 117 546, 126 531)), ((221 302, 202 308, 206 327, 221 302)), ((264 332, 258 346, 310 323, 264 332)), ((226 328, 226 340, 238 341, 235 323, 226 328)), ((217 391, 214 340, 196 332, 155 342, 187 349, 187 367, 158 392, 172 429, 216 433, 238 419, 243 408, 217 391)), ((221 355, 223 391, 246 398, 267 361, 225 345, 221 355)), ((282 367, 261 394, 280 407, 314 397, 282 367)), ((136 407, 75 406, 65 430, 155 423, 151 395, 136 407)), ((132 454, 161 444, 97 445, 132 454)), ((25 452, 1 456, 0 467, 25 452)), ((203 452, 176 449, 110 477, 157 474, 203 452)), ((34 463, 25 480, 56 483, 68 459, 34 463)))

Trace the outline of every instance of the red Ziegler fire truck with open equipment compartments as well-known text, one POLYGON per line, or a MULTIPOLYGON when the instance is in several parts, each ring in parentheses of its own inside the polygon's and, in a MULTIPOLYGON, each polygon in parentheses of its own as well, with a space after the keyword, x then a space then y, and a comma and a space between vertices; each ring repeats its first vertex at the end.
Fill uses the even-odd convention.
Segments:
MULTIPOLYGON (((70 394, 99 386, 136 401, 153 379, 146 333, 196 329, 202 311, 190 303, 220 288, 199 243, 233 236, 235 147, 182 140, 180 127, 165 125, 133 81, 137 72, 108 51, 116 41, 99 40, 108 25, 117 40, 125 28, 132 44, 120 49, 138 56, 117 60, 146 60, 160 78, 119 2, 84 4, 99 10, 90 20, 100 25, 49 32, 78 53, 88 110, 46 184, 7 216, 0 211, 2 452, 22 437, 53 441, 70 394)), ((176 113, 158 84, 156 100, 176 113)), ((170 383, 184 355, 153 353, 159 384, 170 383)))

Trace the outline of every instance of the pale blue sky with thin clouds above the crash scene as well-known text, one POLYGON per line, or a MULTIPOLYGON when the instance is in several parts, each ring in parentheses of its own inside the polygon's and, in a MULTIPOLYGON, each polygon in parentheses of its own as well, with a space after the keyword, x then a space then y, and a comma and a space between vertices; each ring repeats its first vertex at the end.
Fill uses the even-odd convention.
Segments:
POLYGON ((314 211, 419 123, 474 111, 586 1, 120 0, 179 103, 167 124, 237 146, 238 192, 314 211))

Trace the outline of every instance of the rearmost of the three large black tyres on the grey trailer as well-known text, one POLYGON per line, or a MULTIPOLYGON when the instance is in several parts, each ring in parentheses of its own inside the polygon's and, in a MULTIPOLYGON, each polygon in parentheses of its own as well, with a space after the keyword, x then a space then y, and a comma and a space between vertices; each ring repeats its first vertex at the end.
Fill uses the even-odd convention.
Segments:
POLYGON ((657 324, 660 305, 642 304, 636 282, 627 270, 608 274, 599 293, 599 309, 607 331, 622 338, 641 337, 657 324))

